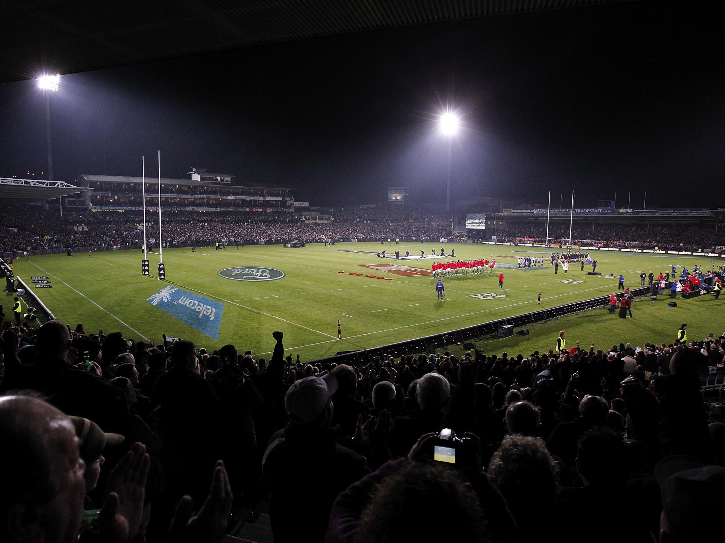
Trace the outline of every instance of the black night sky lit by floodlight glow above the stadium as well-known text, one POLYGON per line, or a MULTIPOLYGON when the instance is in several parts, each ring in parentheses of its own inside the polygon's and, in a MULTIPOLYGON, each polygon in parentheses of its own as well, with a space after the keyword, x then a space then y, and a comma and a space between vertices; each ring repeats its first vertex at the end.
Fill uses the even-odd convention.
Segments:
MULTIPOLYGON (((189 167, 281 183, 312 206, 410 188, 576 206, 723 206, 725 2, 642 1, 236 49, 65 75, 54 177, 189 167), (674 9, 674 6, 679 9, 674 9)), ((0 85, 0 176, 45 176, 41 92, 0 85)))

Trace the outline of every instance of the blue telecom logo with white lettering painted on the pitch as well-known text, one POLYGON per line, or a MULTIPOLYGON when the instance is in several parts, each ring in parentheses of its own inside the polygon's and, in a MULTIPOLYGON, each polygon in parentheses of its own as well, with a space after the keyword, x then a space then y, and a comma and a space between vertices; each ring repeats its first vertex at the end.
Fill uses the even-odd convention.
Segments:
POLYGON ((219 337, 223 303, 171 286, 163 287, 146 301, 206 334, 212 340, 219 337))

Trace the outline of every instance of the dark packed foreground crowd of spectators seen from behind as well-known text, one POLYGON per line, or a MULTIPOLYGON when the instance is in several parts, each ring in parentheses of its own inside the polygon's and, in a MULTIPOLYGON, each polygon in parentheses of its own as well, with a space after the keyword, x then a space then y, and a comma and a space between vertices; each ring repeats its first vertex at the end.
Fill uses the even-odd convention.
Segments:
POLYGON ((724 336, 349 366, 285 357, 282 332, 269 361, 59 321, 1 332, 4 542, 213 542, 243 502, 268 502, 276 543, 718 526, 725 406, 700 376, 725 371, 724 336))

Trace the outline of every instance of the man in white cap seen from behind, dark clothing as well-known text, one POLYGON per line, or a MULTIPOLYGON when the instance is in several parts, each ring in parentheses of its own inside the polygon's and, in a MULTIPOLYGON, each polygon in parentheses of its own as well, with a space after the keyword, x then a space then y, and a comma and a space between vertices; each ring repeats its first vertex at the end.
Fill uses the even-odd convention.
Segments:
POLYGON ((284 397, 290 421, 262 458, 275 543, 299 541, 302 526, 305 539, 322 541, 337 494, 370 473, 365 457, 338 445, 330 431, 336 390, 334 375, 310 376, 284 397))

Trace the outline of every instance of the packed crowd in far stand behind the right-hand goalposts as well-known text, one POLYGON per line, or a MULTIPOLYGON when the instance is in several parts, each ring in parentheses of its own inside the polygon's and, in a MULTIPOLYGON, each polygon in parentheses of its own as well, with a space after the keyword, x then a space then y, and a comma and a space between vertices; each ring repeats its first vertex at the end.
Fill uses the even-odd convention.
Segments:
MULTIPOLYGON (((511 222, 508 226, 497 229, 497 237, 513 242, 517 238, 534 238, 542 243, 546 240, 546 223, 539 222, 511 222)), ((725 245, 725 237, 715 232, 713 224, 687 224, 667 225, 650 224, 610 224, 606 219, 600 219, 596 226, 574 224, 571 231, 572 240, 604 247, 637 247, 654 249, 678 249, 693 251, 699 248, 725 245)), ((562 240, 568 243, 569 224, 550 223, 550 243, 562 240)))

